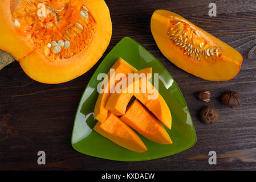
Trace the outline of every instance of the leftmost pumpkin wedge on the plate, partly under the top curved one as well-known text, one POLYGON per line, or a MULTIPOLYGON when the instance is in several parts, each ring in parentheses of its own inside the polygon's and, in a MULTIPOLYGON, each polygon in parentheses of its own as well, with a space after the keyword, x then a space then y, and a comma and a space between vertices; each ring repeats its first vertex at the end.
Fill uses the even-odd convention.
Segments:
POLYGON ((107 104, 111 94, 110 91, 113 89, 113 87, 115 87, 115 84, 119 82, 120 79, 123 79, 117 79, 116 76, 118 76, 119 73, 123 73, 123 75, 127 77, 129 73, 137 72, 136 68, 132 67, 131 64, 127 63, 127 61, 121 58, 119 58, 116 63, 113 64, 111 69, 114 69, 115 72, 111 75, 111 72, 109 71, 107 76, 104 78, 102 84, 108 86, 104 88, 103 93, 99 94, 94 109, 95 119, 100 122, 104 122, 108 116, 108 110, 105 108, 105 105, 107 104), (115 78, 113 78, 113 76, 115 76, 115 78))

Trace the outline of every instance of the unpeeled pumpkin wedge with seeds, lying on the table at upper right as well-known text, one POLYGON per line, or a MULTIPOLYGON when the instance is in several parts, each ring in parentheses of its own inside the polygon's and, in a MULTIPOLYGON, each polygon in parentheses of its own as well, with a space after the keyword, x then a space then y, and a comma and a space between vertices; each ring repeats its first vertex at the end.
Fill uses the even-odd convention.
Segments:
POLYGON ((156 10, 151 31, 162 54, 177 67, 211 81, 235 77, 243 57, 234 48, 180 15, 156 10))

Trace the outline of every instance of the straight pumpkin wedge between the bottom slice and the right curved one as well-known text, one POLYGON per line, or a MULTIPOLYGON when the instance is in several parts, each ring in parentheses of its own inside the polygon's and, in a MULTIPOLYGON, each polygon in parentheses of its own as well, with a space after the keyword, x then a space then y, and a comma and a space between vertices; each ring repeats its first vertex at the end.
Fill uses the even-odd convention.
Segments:
POLYGON ((121 120, 153 142, 172 144, 169 134, 161 123, 137 100, 128 107, 121 120))

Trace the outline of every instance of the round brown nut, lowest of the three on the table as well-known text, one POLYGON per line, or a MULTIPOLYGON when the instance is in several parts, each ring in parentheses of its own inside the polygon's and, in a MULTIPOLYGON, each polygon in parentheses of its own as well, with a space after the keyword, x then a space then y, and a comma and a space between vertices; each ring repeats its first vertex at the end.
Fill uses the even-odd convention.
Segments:
POLYGON ((214 107, 208 106, 201 110, 200 117, 202 122, 209 125, 218 121, 219 114, 214 107))

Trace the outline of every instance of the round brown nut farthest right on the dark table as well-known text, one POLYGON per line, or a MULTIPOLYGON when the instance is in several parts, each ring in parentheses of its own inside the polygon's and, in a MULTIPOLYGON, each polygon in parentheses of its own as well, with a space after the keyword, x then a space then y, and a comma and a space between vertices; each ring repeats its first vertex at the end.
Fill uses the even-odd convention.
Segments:
POLYGON ((241 103, 242 98, 239 93, 233 92, 233 91, 228 91, 222 95, 221 101, 226 106, 235 107, 241 103))

